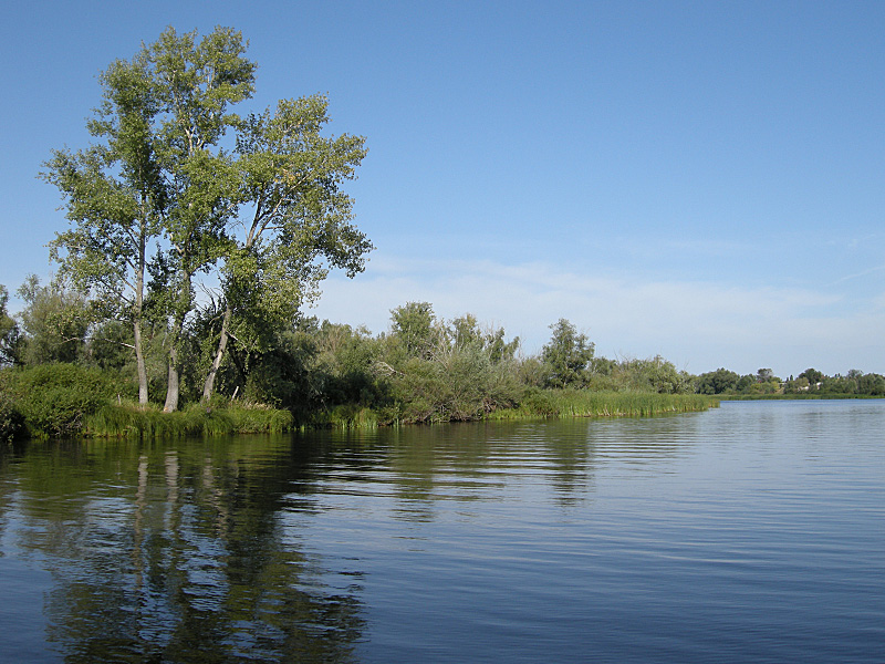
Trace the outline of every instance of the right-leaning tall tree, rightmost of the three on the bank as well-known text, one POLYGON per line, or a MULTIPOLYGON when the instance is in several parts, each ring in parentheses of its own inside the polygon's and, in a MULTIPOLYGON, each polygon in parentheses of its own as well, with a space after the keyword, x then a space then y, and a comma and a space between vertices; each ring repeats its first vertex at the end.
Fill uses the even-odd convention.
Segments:
POLYGON ((365 267, 372 245, 351 224, 353 200, 342 190, 366 154, 365 138, 323 136, 327 111, 321 95, 282 100, 241 126, 237 203, 251 214, 228 235, 226 309, 204 398, 212 394, 232 326, 241 343, 260 347, 268 330, 291 326, 330 267, 348 277, 365 267))

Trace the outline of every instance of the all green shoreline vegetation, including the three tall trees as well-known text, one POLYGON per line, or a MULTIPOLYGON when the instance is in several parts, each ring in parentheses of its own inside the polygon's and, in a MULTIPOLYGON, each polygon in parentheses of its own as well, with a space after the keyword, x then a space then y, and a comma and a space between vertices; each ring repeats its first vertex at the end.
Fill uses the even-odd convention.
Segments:
POLYGON ((257 64, 230 28, 164 31, 98 77, 92 143, 41 177, 66 228, 58 272, 0 286, 0 440, 168 437, 518 417, 643 416, 736 396, 883 396, 885 377, 806 369, 699 376, 660 356, 596 356, 565 319, 519 339, 428 302, 389 329, 303 314, 330 270, 373 249, 345 186, 365 138, 327 134, 329 100, 238 114, 257 64))

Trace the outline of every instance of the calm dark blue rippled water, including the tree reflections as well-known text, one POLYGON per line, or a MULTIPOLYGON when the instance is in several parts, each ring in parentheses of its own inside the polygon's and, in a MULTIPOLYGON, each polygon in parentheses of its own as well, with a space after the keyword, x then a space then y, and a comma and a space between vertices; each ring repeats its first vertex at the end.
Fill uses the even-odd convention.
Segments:
POLYGON ((885 402, 0 448, 2 662, 883 662, 885 402))

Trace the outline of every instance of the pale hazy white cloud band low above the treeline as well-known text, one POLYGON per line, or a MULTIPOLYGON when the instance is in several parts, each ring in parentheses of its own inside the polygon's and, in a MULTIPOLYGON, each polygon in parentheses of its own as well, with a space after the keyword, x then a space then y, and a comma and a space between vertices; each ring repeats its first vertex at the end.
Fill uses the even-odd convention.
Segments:
POLYGON ((662 354, 694 373, 726 366, 740 373, 770 366, 789 375, 808 366, 825 373, 885 371, 877 339, 885 312, 871 302, 809 289, 700 281, 643 282, 626 274, 597 278, 543 262, 394 260, 375 257, 365 274, 334 277, 314 313, 386 330, 389 310, 433 303, 437 315, 466 312, 502 325, 527 353, 566 318, 606 356, 662 354), (839 313, 836 313, 839 311, 839 313))

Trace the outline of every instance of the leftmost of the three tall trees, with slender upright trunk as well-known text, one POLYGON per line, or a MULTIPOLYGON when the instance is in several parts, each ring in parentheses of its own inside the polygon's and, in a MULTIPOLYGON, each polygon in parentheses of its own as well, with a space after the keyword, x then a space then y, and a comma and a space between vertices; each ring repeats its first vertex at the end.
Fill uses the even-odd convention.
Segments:
POLYGON ((98 142, 55 151, 42 174, 66 198, 71 228, 50 245, 62 272, 90 289, 105 317, 132 325, 138 401, 147 403, 143 346, 148 242, 158 237, 166 184, 152 124, 159 111, 145 53, 118 60, 101 75, 102 105, 88 121, 98 142))

